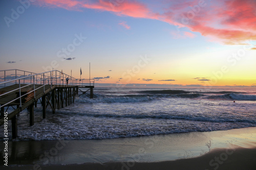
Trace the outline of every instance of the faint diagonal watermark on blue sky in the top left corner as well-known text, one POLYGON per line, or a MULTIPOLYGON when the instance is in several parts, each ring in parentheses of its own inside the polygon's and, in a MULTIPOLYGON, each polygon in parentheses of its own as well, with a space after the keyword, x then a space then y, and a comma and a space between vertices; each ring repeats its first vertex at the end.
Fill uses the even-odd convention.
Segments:
POLYGON ((34 3, 36 0, 20 0, 19 3, 21 4, 16 9, 11 9, 11 15, 10 17, 5 16, 4 20, 7 25, 7 27, 10 27, 11 22, 15 22, 19 18, 20 15, 22 15, 26 9, 28 9, 31 6, 31 3, 34 3))

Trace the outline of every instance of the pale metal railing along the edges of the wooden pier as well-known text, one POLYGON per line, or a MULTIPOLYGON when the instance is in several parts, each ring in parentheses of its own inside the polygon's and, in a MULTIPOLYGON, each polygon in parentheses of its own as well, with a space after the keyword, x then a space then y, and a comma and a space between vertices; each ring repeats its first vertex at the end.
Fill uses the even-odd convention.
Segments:
POLYGON ((72 76, 69 76, 61 71, 52 70, 41 72, 39 74, 35 74, 34 72, 18 70, 18 69, 10 69, 10 70, 0 70, 0 72, 4 72, 4 76, 1 76, 1 80, 4 82, 0 83, 0 87, 6 87, 14 84, 18 84, 18 87, 7 92, 0 92, 0 98, 4 95, 10 94, 14 91, 18 91, 19 95, 17 98, 9 101, 8 103, 2 104, 0 108, 5 107, 12 102, 19 101, 19 107, 22 107, 22 98, 25 95, 34 94, 34 98, 36 95, 36 90, 39 88, 44 88, 44 92, 46 90, 46 85, 50 85, 51 89, 55 85, 62 85, 62 86, 94 86, 95 80, 94 79, 76 79, 72 76), (15 71, 15 74, 7 74, 9 71, 15 71), (20 73, 21 72, 21 73, 20 73), (26 75, 29 74, 29 75, 26 75), (8 77, 9 76, 9 77, 8 77), (10 77, 11 76, 11 77, 10 77), (12 79, 13 80, 8 80, 12 79), (68 82, 67 82, 68 79, 68 82), (27 93, 22 93, 23 89, 26 87, 32 87, 32 90, 29 90, 27 93), (23 94, 23 95, 22 95, 23 94))

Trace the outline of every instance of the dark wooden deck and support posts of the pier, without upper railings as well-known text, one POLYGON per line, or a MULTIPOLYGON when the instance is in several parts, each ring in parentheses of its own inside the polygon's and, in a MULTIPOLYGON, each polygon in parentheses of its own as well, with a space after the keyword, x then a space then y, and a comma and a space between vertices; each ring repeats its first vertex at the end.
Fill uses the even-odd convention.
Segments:
MULTIPOLYGON (((4 94, 0 96, 0 105, 3 106, 13 100, 13 102, 1 107, 1 116, 0 116, 0 126, 4 124, 4 113, 5 108, 15 107, 14 111, 8 113, 8 120, 12 121, 12 138, 17 137, 17 119, 16 115, 22 110, 28 108, 30 112, 30 126, 34 125, 34 106, 36 107, 37 102, 41 102, 42 106, 42 118, 46 118, 46 108, 50 106, 53 114, 55 113, 55 109, 63 108, 64 106, 68 106, 71 103, 74 103, 75 96, 78 94, 79 88, 90 88, 90 98, 93 98, 93 88, 94 86, 73 86, 73 85, 27 85, 20 84, 20 87, 27 86, 26 89, 31 89, 29 91, 24 91, 24 93, 29 93, 29 96, 25 96, 22 98, 22 103, 20 105, 19 98, 19 84, 14 84, 8 87, 4 87, 0 89, 0 94, 4 94), (33 91, 34 89, 35 92, 33 91)), ((22 88, 22 89, 25 89, 22 88)), ((23 95, 22 94, 22 95, 23 95)))

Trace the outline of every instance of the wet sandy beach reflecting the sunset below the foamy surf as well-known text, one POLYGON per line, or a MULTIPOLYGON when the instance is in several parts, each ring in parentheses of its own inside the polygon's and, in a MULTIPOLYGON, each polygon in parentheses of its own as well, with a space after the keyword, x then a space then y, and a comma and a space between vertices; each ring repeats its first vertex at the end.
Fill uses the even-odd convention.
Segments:
POLYGON ((9 166, 1 160, 1 169, 255 169, 256 128, 103 140, 9 141, 8 154, 9 166))

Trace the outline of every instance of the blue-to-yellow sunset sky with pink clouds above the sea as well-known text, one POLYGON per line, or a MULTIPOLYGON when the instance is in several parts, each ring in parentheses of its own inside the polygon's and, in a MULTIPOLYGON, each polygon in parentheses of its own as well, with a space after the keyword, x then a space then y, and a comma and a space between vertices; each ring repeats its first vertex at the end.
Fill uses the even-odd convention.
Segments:
POLYGON ((256 87, 255 0, 2 0, 0 18, 1 70, 256 87))

